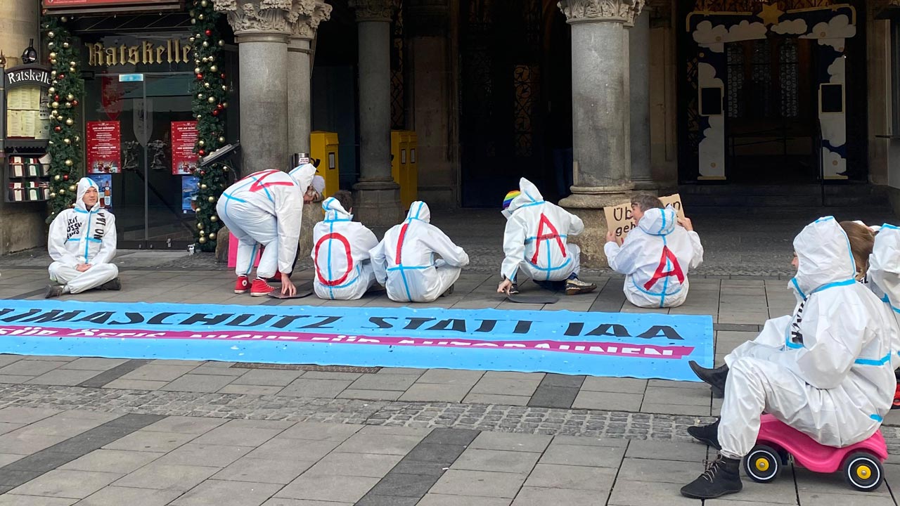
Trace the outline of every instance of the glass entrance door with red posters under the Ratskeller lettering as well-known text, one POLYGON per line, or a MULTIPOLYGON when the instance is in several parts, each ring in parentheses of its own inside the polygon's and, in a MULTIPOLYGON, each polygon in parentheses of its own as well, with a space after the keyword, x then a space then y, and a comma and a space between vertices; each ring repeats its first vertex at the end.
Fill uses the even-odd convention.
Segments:
POLYGON ((183 249, 193 242, 192 77, 104 74, 86 83, 94 99, 87 103, 97 104, 85 111, 87 175, 116 216, 119 248, 183 249), (97 154, 114 151, 108 145, 117 141, 118 157, 97 154))

